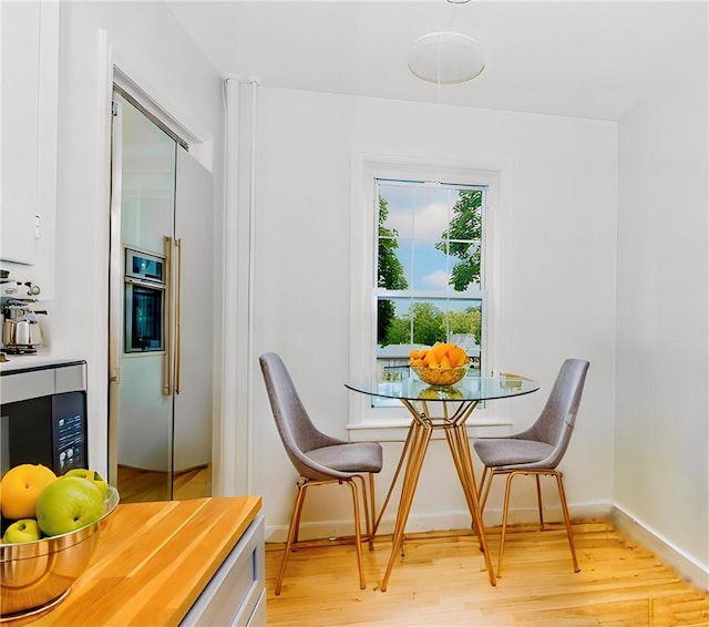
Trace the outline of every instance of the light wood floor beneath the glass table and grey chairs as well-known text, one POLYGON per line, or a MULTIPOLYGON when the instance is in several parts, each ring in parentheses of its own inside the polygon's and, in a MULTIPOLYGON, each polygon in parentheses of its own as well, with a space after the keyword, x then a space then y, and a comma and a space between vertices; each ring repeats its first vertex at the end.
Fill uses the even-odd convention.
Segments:
MULTIPOLYGON (((489 531, 495 565, 499 532, 489 531)), ((508 527, 496 587, 471 532, 407 535, 386 593, 379 585, 389 538, 378 538, 373 552, 364 546, 363 590, 352 545, 302 548, 291 553, 278 597, 282 545, 267 544, 268 625, 709 626, 709 596, 610 524, 575 524, 574 533, 580 573, 572 571, 564 531, 508 527)))

